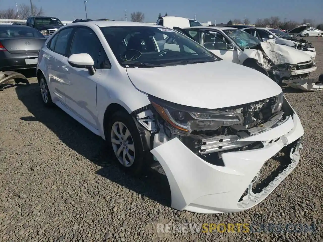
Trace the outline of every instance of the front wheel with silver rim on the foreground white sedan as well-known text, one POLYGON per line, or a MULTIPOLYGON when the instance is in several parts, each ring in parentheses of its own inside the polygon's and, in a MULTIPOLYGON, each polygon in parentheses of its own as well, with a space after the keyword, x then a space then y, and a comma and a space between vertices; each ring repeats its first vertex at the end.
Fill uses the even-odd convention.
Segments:
POLYGON ((143 175, 148 167, 148 156, 132 117, 125 111, 114 113, 105 128, 105 136, 120 168, 134 176, 143 175))

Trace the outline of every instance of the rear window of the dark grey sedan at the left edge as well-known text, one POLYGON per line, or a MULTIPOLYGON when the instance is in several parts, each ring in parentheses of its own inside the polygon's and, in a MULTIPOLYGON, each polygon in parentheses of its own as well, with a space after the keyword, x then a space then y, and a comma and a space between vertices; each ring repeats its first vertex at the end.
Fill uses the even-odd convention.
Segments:
POLYGON ((31 27, 23 27, 23 26, 9 26, 3 27, 0 25, 0 38, 24 38, 24 37, 38 37, 44 38, 38 30, 31 27))

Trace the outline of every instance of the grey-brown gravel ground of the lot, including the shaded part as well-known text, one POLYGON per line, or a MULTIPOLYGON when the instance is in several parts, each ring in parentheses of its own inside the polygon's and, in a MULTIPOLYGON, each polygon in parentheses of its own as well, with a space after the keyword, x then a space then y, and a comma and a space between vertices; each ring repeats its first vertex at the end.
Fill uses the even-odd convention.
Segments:
MULTIPOLYGON (((323 73, 323 38, 309 38, 323 73)), ((245 212, 194 214, 169 207, 165 176, 138 179, 106 146, 59 108, 43 107, 36 78, 0 92, 0 242, 4 241, 323 241, 323 91, 283 88, 305 138, 299 165, 245 212), (157 233, 157 223, 303 223, 302 233, 157 233)))

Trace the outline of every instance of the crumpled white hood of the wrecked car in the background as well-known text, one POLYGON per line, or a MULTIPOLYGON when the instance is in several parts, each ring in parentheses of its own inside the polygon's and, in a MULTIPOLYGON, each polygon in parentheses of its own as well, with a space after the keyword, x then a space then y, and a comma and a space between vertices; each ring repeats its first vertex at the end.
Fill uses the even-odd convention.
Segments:
POLYGON ((297 64, 300 62, 311 61, 311 56, 302 50, 297 50, 286 45, 277 45, 270 42, 260 43, 265 54, 273 61, 275 65, 279 64, 297 64))

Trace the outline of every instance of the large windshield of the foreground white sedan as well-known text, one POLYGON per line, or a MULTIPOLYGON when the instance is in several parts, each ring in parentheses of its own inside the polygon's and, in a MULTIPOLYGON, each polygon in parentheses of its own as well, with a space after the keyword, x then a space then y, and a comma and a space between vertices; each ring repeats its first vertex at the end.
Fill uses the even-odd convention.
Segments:
POLYGON ((174 66, 221 60, 189 37, 165 27, 101 27, 121 66, 174 66))

